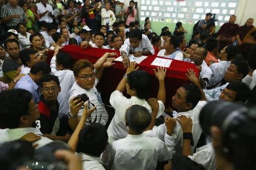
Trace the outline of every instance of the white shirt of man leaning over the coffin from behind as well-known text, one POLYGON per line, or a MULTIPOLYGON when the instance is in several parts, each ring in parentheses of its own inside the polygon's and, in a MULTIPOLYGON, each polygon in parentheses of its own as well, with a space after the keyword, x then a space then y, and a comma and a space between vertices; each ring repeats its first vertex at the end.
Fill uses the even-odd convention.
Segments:
POLYGON ((148 37, 144 34, 142 35, 142 40, 139 43, 139 45, 137 46, 137 48, 133 48, 130 45, 130 40, 129 39, 126 39, 125 42, 123 43, 123 45, 120 48, 120 52, 123 51, 127 55, 129 53, 146 52, 147 50, 149 50, 152 55, 155 54, 155 50, 153 48, 153 45, 151 44, 148 37))

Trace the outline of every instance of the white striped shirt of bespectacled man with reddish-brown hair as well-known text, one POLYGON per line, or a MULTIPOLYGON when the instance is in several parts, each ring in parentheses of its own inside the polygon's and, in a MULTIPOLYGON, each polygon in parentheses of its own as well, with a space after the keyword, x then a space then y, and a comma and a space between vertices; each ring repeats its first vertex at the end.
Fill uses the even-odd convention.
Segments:
MULTIPOLYGON (((108 122, 108 112, 106 111, 104 104, 102 103, 102 99, 101 99, 101 95, 100 92, 98 92, 96 86, 98 84, 98 79, 96 78, 95 83, 93 88, 89 89, 89 90, 85 90, 84 88, 81 88, 79 86, 79 84, 77 84, 77 82, 75 82, 70 90, 70 97, 68 101, 71 101, 72 97, 75 97, 77 95, 81 95, 81 94, 86 94, 88 95, 89 99, 90 99, 90 103, 97 105, 96 111, 94 111, 91 114, 92 117, 92 122, 95 120, 96 118, 96 114, 97 114, 97 123, 100 122, 102 125, 106 125, 106 123, 108 122), (101 116, 101 118, 100 118, 101 116), (100 121, 101 119, 101 121, 100 121)), ((90 108, 93 107, 93 105, 90 104, 90 108)), ((70 109, 70 107, 69 107, 70 109)), ((82 111, 84 111, 84 109, 80 109, 79 111, 79 116, 82 115, 82 111)), ((86 120, 86 124, 89 124, 89 120, 86 120)))

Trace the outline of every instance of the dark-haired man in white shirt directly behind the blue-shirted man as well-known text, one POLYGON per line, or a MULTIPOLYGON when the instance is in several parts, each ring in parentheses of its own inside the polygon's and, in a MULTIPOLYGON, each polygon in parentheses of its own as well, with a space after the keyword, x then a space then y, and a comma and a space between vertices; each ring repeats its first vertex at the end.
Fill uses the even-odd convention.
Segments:
POLYGON ((21 67, 20 74, 28 74, 30 73, 31 67, 37 63, 40 62, 40 58, 42 57, 42 54, 37 53, 36 50, 32 48, 23 49, 19 53, 19 59, 22 61, 23 66, 21 67))

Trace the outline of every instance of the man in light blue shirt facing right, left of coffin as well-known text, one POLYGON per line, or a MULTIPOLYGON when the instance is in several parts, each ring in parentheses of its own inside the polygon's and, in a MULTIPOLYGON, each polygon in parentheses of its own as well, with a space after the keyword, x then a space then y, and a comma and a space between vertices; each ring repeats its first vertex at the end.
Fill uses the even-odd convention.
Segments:
POLYGON ((40 101, 40 91, 38 82, 43 77, 43 75, 51 73, 51 68, 46 62, 35 63, 31 67, 30 73, 23 76, 14 86, 14 88, 22 88, 31 92, 33 100, 35 103, 40 101))

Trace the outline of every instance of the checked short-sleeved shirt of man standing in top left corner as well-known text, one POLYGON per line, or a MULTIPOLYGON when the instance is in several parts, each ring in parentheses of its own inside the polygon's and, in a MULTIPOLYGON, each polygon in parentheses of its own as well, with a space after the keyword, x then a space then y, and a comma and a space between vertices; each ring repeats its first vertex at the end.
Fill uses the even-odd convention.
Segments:
POLYGON ((25 13, 23 9, 19 6, 13 7, 10 5, 10 3, 7 3, 7 5, 4 5, 1 10, 1 18, 7 18, 10 15, 18 14, 20 18, 13 18, 10 20, 10 22, 6 23, 9 27, 16 27, 18 23, 23 23, 25 19, 25 13))

